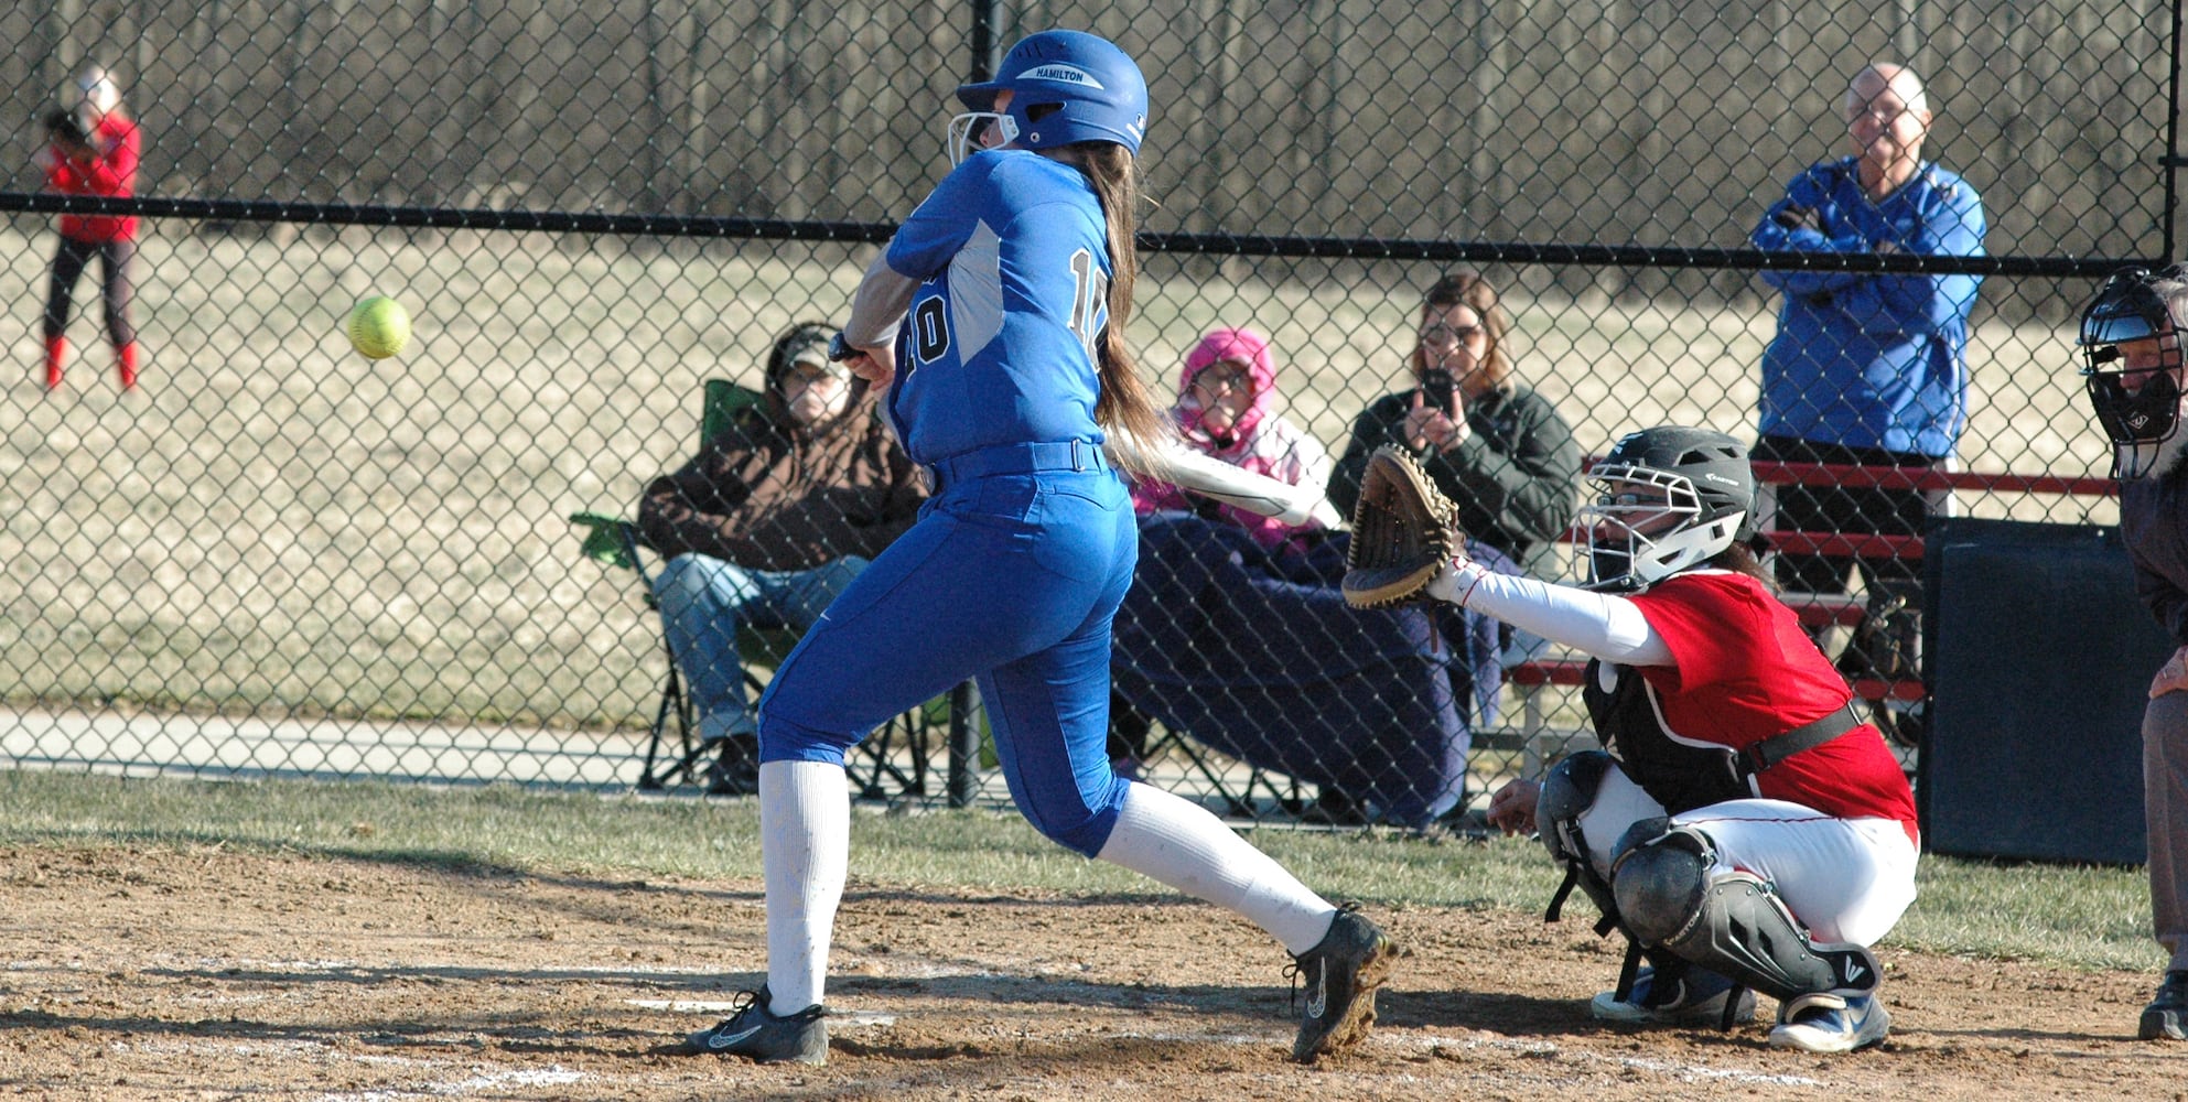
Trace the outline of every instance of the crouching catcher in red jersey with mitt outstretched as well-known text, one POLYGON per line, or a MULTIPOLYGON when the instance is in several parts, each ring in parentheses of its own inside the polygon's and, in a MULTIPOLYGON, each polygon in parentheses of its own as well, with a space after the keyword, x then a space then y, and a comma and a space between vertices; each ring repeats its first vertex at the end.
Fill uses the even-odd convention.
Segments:
POLYGON ((1505 833, 1540 833, 1632 942, 1588 1010, 1626 1023, 1753 1021, 1770 1043, 1851 1052, 1884 1041, 1882 938, 1915 901, 1915 796, 1831 660, 1770 593, 1748 547, 1755 474, 1737 439, 1632 433, 1580 507, 1586 586, 1468 562, 1442 501, 1403 455, 1378 455, 1354 514, 1346 595, 1420 595, 1591 656, 1582 697, 1604 750, 1490 800, 1505 833))

